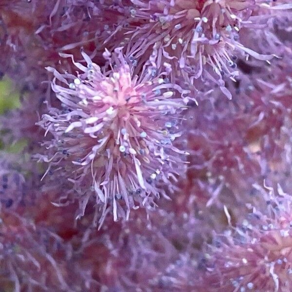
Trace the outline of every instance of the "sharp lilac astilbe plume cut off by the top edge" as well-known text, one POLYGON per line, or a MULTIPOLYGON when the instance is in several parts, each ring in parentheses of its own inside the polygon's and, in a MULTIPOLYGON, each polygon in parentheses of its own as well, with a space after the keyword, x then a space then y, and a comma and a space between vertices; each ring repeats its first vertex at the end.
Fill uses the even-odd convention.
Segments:
MULTIPOLYGON (((292 8, 291 4, 269 5, 263 9, 292 8)), ((172 81, 183 79, 200 91, 217 84, 231 98, 224 80, 235 80, 238 75, 236 55, 270 60, 276 53, 260 55, 239 41, 241 28, 264 28, 262 18, 253 16, 261 7, 260 1, 132 0, 113 7, 124 9, 128 15, 127 38, 121 43, 139 70, 145 63, 152 65, 154 71, 165 68, 172 81)), ((121 26, 118 30, 123 32, 121 26)), ((117 40, 118 37, 114 39, 117 40)))

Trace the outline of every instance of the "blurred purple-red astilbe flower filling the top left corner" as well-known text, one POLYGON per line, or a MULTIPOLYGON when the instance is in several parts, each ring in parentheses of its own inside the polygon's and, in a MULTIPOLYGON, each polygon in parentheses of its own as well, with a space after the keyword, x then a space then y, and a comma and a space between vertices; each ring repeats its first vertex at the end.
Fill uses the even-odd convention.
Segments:
MULTIPOLYGON (((99 65, 104 59, 103 40, 125 18, 97 1, 39 0, 0 3, 0 72, 7 73, 18 87, 43 89, 46 66, 57 68, 60 52, 82 58, 82 48, 99 65)), ((62 69, 72 69, 62 62, 62 69)))

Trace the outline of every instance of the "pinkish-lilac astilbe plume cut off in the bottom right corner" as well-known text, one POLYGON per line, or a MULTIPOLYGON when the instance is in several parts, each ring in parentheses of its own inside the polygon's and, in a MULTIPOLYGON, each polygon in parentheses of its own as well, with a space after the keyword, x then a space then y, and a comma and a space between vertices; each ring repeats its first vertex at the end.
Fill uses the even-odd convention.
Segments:
MULTIPOLYGON (((266 206, 251 213, 233 231, 219 236, 206 253, 205 291, 288 292, 291 289, 291 197, 278 186, 275 196, 261 186, 266 206)), ((205 287, 204 284, 202 284, 205 287)))

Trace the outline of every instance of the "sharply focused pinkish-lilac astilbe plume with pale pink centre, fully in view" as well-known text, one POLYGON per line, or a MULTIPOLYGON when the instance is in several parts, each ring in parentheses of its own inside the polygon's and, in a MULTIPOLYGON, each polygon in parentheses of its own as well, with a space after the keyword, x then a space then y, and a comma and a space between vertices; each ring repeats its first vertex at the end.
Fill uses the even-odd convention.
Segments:
POLYGON ((147 72, 133 76, 119 49, 105 73, 83 56, 88 67, 75 63, 83 72, 77 76, 49 68, 63 110, 51 108, 43 115, 39 124, 53 139, 44 142, 48 155, 38 157, 50 163, 47 173, 73 183, 80 200, 78 218, 94 196, 100 222, 109 211, 114 220, 128 218, 131 208, 154 207, 155 197, 167 197, 159 184, 171 189, 170 182, 182 173, 180 156, 186 152, 172 145, 180 136, 178 114, 185 108, 183 99, 176 98, 181 89, 147 72))

